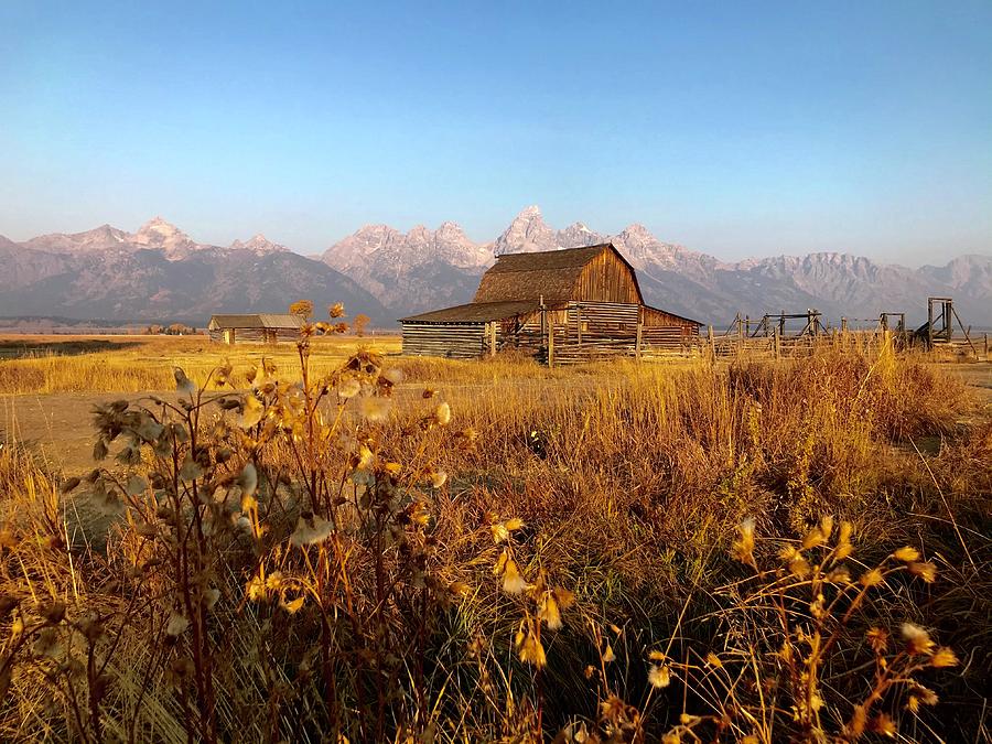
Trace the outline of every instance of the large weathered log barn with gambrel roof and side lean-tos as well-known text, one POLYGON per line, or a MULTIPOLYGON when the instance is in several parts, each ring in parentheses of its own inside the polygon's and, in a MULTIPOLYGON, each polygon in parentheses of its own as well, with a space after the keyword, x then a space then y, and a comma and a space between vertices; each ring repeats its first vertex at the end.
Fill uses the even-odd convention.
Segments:
POLYGON ((646 305, 634 267, 612 244, 500 256, 468 304, 400 322, 407 355, 522 348, 548 364, 686 352, 700 326, 646 305))

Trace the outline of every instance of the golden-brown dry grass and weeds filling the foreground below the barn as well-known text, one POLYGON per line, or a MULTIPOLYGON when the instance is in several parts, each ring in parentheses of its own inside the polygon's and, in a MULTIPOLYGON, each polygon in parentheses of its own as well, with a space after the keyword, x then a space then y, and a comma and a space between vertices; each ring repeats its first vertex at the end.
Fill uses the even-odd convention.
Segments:
POLYGON ((992 422, 960 382, 891 348, 314 348, 108 402, 91 473, 0 450, 0 737, 988 735, 992 422))

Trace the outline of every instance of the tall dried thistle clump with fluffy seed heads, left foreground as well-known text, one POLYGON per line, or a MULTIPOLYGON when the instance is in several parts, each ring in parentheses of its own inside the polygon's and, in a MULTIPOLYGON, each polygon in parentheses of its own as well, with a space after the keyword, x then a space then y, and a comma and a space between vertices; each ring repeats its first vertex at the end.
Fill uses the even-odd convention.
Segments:
MULTIPOLYGON (((328 322, 303 325, 295 384, 266 358, 244 378, 225 364, 201 386, 176 368, 174 401, 97 407, 94 457, 116 463, 66 484, 121 519, 132 574, 153 574, 133 587, 164 641, 145 676, 174 687, 191 737, 231 735, 217 727, 215 659, 241 653, 224 626, 245 615, 258 634, 237 643, 270 659, 255 673, 273 740, 283 735, 280 704, 310 698, 321 705, 311 718, 335 736, 381 740, 429 724, 428 641, 466 591, 436 560, 432 499, 448 476, 434 454, 448 439, 471 445, 473 434, 449 433, 450 406, 425 392, 400 442, 413 454, 401 460, 386 424, 402 376, 380 354, 359 349, 333 373, 311 374, 312 339, 344 333, 342 314, 335 305, 328 322), (233 573, 240 592, 230 591, 233 573), (305 637, 319 638, 316 649, 272 648, 305 637), (287 689, 285 669, 302 689, 287 689)), ((30 632, 52 646, 53 625, 30 632)))

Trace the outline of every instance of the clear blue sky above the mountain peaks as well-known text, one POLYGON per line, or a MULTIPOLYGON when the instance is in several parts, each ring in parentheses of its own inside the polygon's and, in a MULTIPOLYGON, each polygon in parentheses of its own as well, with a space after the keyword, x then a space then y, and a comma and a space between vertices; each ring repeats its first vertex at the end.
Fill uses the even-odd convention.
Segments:
POLYGON ((0 234, 992 252, 992 2, 0 2, 0 234), (155 7, 158 6, 158 7, 155 7))

